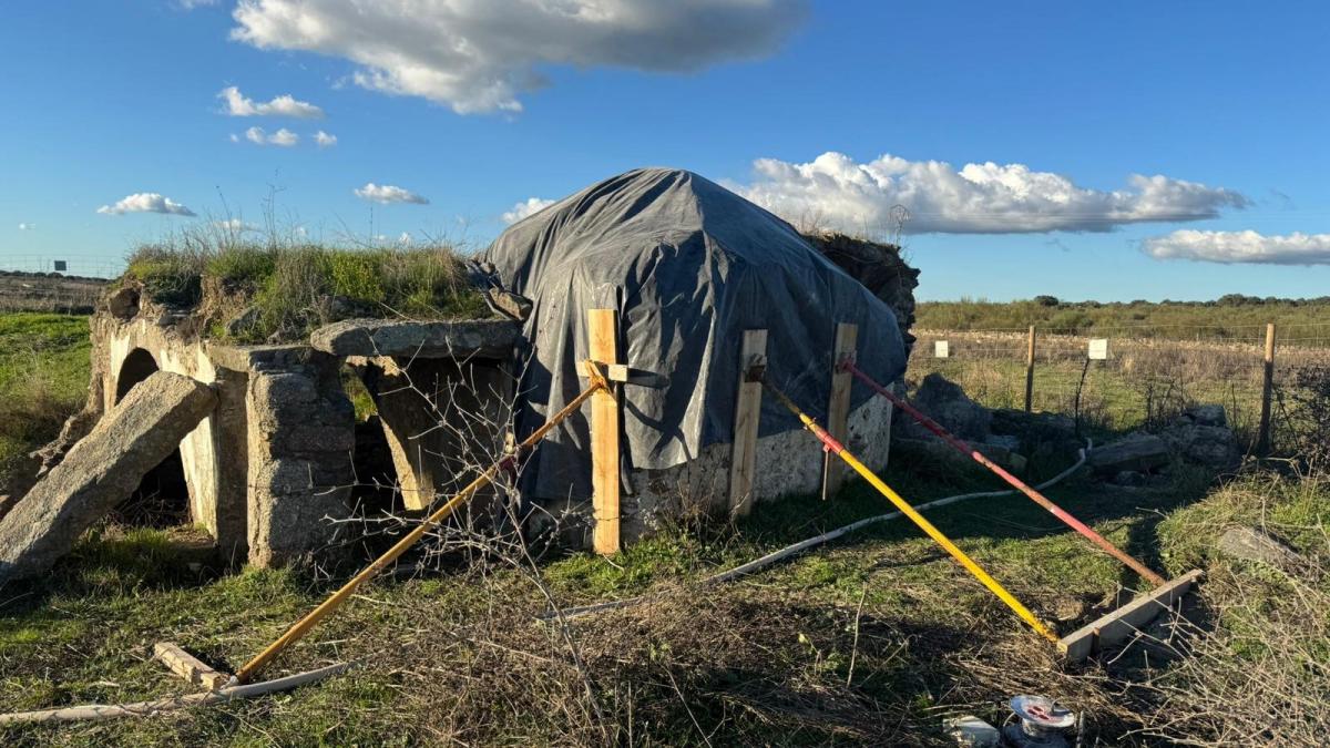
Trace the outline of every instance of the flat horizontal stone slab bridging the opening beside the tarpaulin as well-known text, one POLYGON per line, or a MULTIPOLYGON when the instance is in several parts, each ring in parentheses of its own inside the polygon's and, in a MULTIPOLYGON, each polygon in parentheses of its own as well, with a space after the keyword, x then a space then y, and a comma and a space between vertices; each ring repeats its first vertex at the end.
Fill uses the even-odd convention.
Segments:
POLYGON ((520 331, 512 319, 344 319, 314 330, 310 345, 338 357, 507 358, 520 331))

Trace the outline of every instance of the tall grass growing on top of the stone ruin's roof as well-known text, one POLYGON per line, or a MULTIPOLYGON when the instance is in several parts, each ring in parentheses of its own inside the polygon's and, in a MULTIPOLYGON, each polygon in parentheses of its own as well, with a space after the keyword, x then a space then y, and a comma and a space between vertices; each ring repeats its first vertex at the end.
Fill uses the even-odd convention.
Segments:
POLYGON ((207 307, 210 334, 262 342, 303 337, 346 317, 488 317, 463 260, 448 246, 332 248, 174 241, 141 246, 124 281, 158 303, 207 307), (247 325, 226 322, 251 309, 247 325))

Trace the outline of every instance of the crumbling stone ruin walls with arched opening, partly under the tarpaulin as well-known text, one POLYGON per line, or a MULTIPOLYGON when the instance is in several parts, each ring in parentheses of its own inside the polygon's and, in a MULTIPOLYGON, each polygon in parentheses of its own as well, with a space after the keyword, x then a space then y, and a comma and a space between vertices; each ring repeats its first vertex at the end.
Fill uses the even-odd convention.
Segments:
MULTIPOLYGON (((914 318, 910 291, 918 272, 900 261, 895 248, 847 237, 810 238, 892 306, 902 331, 908 330, 914 318)), ((140 418, 137 411, 126 415, 117 406, 126 405, 126 398, 150 379, 154 391, 165 387, 157 383, 162 378, 153 375, 169 373, 206 386, 211 393, 206 413, 197 413, 178 449, 170 450, 173 454, 161 465, 146 465, 145 455, 156 453, 140 450, 125 474, 141 478, 144 484, 154 471, 172 470, 182 476, 176 488, 188 495, 184 514, 206 531, 221 558, 277 566, 344 542, 347 538, 339 534, 348 532, 347 523, 339 520, 364 510, 356 504, 374 500, 375 494, 380 499, 390 495, 382 499, 382 508, 419 516, 513 442, 513 351, 523 329, 513 317, 529 313, 529 303, 508 301, 512 303, 492 305, 496 314, 489 319, 343 319, 315 329, 307 339, 233 345, 209 335, 207 321, 197 309, 154 302, 141 286, 126 282, 110 291, 92 317, 92 377, 85 409, 65 425, 56 442, 35 453, 40 470, 19 480, 17 488, 11 484, 9 491, 23 495, 36 483, 29 494, 36 499, 52 490, 48 483, 59 478, 63 461, 86 461, 92 459, 88 455, 104 453, 122 457, 137 449, 117 447, 104 438, 98 442, 98 434, 109 421, 140 418), (509 314, 497 313, 504 309, 509 314), (364 387, 376 415, 356 421, 348 382, 364 387), (468 414, 466 429, 439 427, 459 413, 468 414)), ((150 410, 144 403, 134 407, 144 414, 150 410)), ((866 462, 876 467, 886 463, 890 419, 891 410, 880 398, 870 399, 850 417, 850 445, 864 450, 866 462)), ((763 467, 753 490, 757 500, 814 491, 821 482, 821 453, 799 431, 762 437, 758 465, 763 467), (801 458, 791 459, 793 454, 801 458)), ((64 472, 73 471, 70 467, 64 472)), ((728 471, 728 445, 709 445, 685 465, 625 472, 625 542, 650 532, 662 516, 680 511, 670 496, 681 486, 724 492, 728 471)), ((117 479, 124 480, 124 475, 117 479)), ((573 518, 573 524, 580 518, 585 526, 589 496, 571 499, 525 498, 544 503, 549 508, 547 518, 573 518)), ((4 507, 23 508, 25 500, 0 500, 0 512, 4 507)), ((97 502, 105 499, 88 500, 89 506, 100 506, 97 502)), ((11 512, 13 523, 21 514, 11 512)), ((7 524, 0 522, 0 548, 9 544, 7 532, 7 524)), ((585 534, 571 536, 561 535, 572 544, 585 542, 585 534)), ((0 556, 0 576, 4 566, 0 556)))

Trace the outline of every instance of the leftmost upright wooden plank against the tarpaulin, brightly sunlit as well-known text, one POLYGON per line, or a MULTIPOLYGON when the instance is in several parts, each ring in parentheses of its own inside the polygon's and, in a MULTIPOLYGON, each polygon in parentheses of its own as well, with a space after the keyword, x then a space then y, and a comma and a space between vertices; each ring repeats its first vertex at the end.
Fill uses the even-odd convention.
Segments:
MULTIPOLYGON (((618 363, 618 313, 587 310, 588 354, 602 366, 618 363)), ((600 555, 618 552, 618 395, 601 390, 591 398, 591 484, 596 527, 592 544, 600 555)))

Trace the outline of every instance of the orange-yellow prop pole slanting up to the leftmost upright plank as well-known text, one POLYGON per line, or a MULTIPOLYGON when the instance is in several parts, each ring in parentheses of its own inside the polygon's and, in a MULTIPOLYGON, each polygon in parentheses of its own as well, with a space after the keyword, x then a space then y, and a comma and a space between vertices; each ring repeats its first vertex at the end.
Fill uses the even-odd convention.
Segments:
MULTIPOLYGON (((580 409, 581 405, 587 402, 588 398, 591 398, 591 395, 596 394, 602 387, 605 387, 605 379, 598 375, 596 367, 592 366, 588 369, 592 373, 591 386, 587 387, 580 395, 573 398, 572 402, 564 406, 563 410, 556 413, 553 418, 547 421, 540 429, 536 429, 536 431, 532 433, 529 437, 527 437, 525 441, 517 445, 519 454, 521 450, 528 450, 536 446, 536 443, 544 439, 545 435, 549 434, 549 431, 555 426, 557 426, 561 421, 564 421, 573 413, 577 413, 577 409, 580 409)), ((262 668, 265 664, 267 664, 269 660, 271 660, 278 654, 281 654, 282 650, 286 650, 289 646, 291 646, 302 636, 305 636, 305 634, 309 632, 311 628, 314 628, 314 626, 318 624, 319 620, 323 619, 323 616, 329 615, 330 612, 340 607, 342 603, 344 603, 346 599, 350 598, 352 592, 355 592, 356 587, 367 582, 378 572, 383 571, 383 568, 387 567, 390 563, 398 560, 398 558, 402 554, 404 554, 407 548, 414 546, 420 538, 423 538, 426 532, 428 532, 430 530, 436 527, 440 522, 447 519, 447 516, 454 511, 456 511, 458 507, 471 500, 471 496, 473 496, 476 491, 489 484, 489 482, 493 480, 495 476, 499 474, 499 471, 503 468, 505 462, 507 459, 503 459, 489 466, 489 468, 485 470, 483 474, 480 474, 479 478, 472 480, 469 484, 467 484, 466 488, 458 491, 451 499, 448 499, 448 503, 435 510, 434 514, 427 516, 424 522, 422 522, 415 527, 415 530, 403 535, 402 539, 398 540, 391 548, 384 551, 382 556, 374 559, 374 562, 370 566, 360 570, 360 572, 352 576, 350 582, 343 584, 340 590, 332 592, 332 595, 330 595, 326 600, 319 603, 319 607, 314 608, 313 611, 306 614, 305 618, 295 622, 295 624, 293 624, 291 628, 286 630, 286 634, 283 634, 275 642, 269 644, 267 648, 255 655, 253 660, 245 663, 245 667, 242 667, 235 673, 235 680, 238 683, 249 683, 250 679, 254 677, 254 673, 258 672, 259 668, 262 668)))

